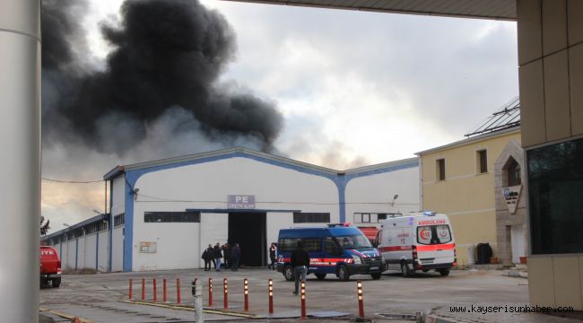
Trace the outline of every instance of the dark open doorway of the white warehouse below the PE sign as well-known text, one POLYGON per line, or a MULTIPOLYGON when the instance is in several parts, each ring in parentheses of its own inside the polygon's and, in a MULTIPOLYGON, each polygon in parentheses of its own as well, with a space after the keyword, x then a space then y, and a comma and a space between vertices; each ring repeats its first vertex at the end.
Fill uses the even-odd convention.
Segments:
POLYGON ((265 213, 233 212, 229 214, 229 244, 239 243, 241 266, 267 266, 265 228, 265 213))

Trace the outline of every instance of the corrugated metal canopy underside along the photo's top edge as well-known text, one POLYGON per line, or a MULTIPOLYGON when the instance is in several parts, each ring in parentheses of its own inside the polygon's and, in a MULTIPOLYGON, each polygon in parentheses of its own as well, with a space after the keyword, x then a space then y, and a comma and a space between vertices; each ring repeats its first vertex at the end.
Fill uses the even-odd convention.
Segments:
POLYGON ((384 13, 516 21, 516 0, 225 0, 384 13))

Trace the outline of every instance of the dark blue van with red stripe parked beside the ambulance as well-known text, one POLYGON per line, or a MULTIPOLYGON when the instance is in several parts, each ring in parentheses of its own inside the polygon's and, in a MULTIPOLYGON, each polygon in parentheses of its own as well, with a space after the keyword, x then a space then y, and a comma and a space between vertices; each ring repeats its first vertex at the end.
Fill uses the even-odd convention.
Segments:
POLYGON ((379 279, 384 261, 379 250, 372 247, 367 237, 348 224, 328 224, 325 228, 295 228, 279 231, 277 245, 277 271, 292 281, 292 251, 298 241, 303 241, 308 251, 308 274, 324 279, 334 274, 347 281, 351 275, 370 275, 379 279))

